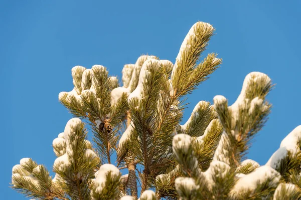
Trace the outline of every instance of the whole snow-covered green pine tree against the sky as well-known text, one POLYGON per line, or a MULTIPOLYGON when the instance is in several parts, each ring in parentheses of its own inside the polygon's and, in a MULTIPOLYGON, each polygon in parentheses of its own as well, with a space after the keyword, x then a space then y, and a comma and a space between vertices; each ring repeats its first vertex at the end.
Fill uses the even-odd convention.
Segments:
POLYGON ((214 31, 193 25, 175 64, 143 55, 125 65, 122 87, 101 65, 72 68, 74 88, 59 101, 75 118, 53 140, 55 177, 23 158, 12 187, 39 199, 301 199, 301 126, 265 165, 246 159, 271 109, 267 75, 248 74, 231 106, 200 101, 180 125, 185 96, 222 62, 215 53, 199 62, 214 31))

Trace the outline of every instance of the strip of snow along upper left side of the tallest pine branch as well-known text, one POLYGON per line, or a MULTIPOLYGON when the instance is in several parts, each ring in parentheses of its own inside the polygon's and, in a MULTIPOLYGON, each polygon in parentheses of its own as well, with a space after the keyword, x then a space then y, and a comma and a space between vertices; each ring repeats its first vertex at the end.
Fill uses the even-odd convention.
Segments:
POLYGON ((185 52, 187 49, 190 48, 190 45, 188 44, 189 41, 196 39, 196 35, 195 35, 195 29, 198 27, 198 25, 203 26, 206 29, 209 29, 211 31, 213 31, 213 27, 208 24, 208 23, 204 23, 204 22, 197 22, 195 23, 191 29, 189 30, 188 34, 186 35, 181 47, 180 47, 180 51, 178 53, 178 56, 176 58, 176 63, 174 65, 173 71, 172 71, 172 76, 171 78, 173 79, 173 76, 178 68, 178 64, 179 62, 182 60, 182 53, 185 52))

